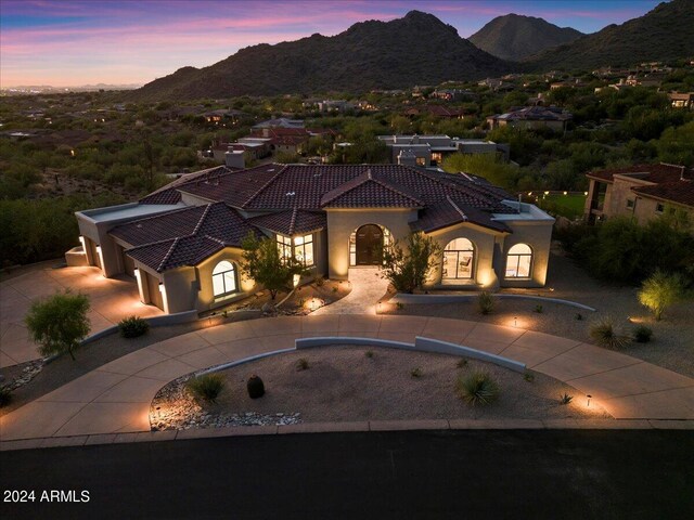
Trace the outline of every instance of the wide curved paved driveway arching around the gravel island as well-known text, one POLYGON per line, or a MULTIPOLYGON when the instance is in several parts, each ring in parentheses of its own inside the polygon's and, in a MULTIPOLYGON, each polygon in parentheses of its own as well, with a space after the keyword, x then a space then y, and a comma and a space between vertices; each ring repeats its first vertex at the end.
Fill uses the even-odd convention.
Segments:
MULTIPOLYGON (((150 430, 150 403, 168 381, 220 363, 294 347, 301 337, 415 336, 501 354, 591 394, 619 419, 694 419, 694 379, 571 339, 426 316, 308 315, 230 323, 152 344, 107 363, 0 418, 0 439, 150 430)), ((345 339, 345 342, 349 342, 345 339)))

